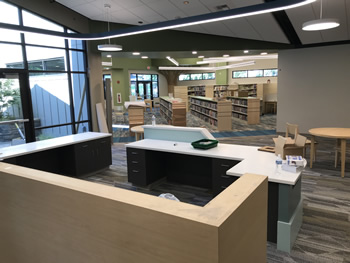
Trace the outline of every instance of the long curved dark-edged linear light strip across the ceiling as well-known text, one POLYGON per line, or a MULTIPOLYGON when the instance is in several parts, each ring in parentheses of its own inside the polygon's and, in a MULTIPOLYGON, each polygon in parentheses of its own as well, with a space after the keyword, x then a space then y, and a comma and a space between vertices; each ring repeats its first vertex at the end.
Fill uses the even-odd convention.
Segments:
POLYGON ((259 15, 259 14, 271 13, 271 12, 282 11, 286 9, 307 5, 315 1, 316 0, 276 0, 276 1, 266 2, 262 4, 240 7, 240 8, 235 8, 235 9, 230 9, 230 10, 225 10, 225 11, 220 11, 215 13, 185 17, 185 18, 180 18, 180 19, 175 19, 170 21, 153 23, 149 25, 133 26, 133 27, 114 30, 114 31, 92 33, 92 34, 63 33, 63 32, 46 30, 46 29, 12 25, 12 24, 4 24, 4 23, 0 23, 0 28, 17 30, 20 32, 46 34, 46 35, 52 35, 56 37, 63 37, 67 39, 99 40, 99 39, 144 34, 144 33, 155 32, 155 31, 166 30, 166 29, 174 29, 174 28, 193 26, 193 25, 199 25, 204 23, 234 19, 239 17, 247 17, 247 16, 259 15))

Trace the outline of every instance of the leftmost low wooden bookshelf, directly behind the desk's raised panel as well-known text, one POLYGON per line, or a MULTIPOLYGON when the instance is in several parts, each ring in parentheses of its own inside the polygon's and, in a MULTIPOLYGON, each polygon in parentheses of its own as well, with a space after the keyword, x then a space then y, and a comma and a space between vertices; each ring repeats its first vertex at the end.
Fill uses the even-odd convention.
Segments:
POLYGON ((178 98, 160 97, 160 114, 174 126, 186 126, 186 103, 178 98))

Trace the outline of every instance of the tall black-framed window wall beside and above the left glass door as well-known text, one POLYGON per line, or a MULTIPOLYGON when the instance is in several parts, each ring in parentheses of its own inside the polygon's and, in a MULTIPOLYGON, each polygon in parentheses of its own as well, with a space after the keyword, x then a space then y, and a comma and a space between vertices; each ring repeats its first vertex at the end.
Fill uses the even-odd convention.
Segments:
MULTIPOLYGON (((76 33, 3 1, 0 23, 76 33)), ((31 107, 27 111, 33 112, 29 121, 34 130, 27 136, 26 129, 26 137, 43 140, 91 130, 85 41, 27 32, 21 38, 20 34, 0 30, 0 70, 12 69, 28 80, 22 83, 29 87, 21 89, 31 96, 21 93, 21 100, 31 107)))

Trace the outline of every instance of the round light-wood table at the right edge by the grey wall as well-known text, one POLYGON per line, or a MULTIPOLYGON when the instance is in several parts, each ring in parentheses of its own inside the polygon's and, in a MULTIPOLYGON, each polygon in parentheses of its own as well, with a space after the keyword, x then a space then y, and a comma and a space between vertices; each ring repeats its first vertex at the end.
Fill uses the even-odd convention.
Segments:
POLYGON ((311 158, 310 168, 312 168, 312 160, 314 158, 315 149, 315 136, 334 138, 340 140, 341 150, 341 177, 345 175, 345 152, 346 152, 346 139, 350 139, 350 128, 314 128, 310 129, 311 136, 311 158))

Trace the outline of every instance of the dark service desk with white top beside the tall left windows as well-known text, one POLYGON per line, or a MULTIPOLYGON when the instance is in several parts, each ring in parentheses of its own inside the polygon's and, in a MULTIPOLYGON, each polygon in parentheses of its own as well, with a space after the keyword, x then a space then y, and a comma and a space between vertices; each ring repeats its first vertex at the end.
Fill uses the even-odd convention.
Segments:
POLYGON ((112 164, 111 134, 86 132, 0 149, 0 159, 41 171, 82 176, 112 164))

